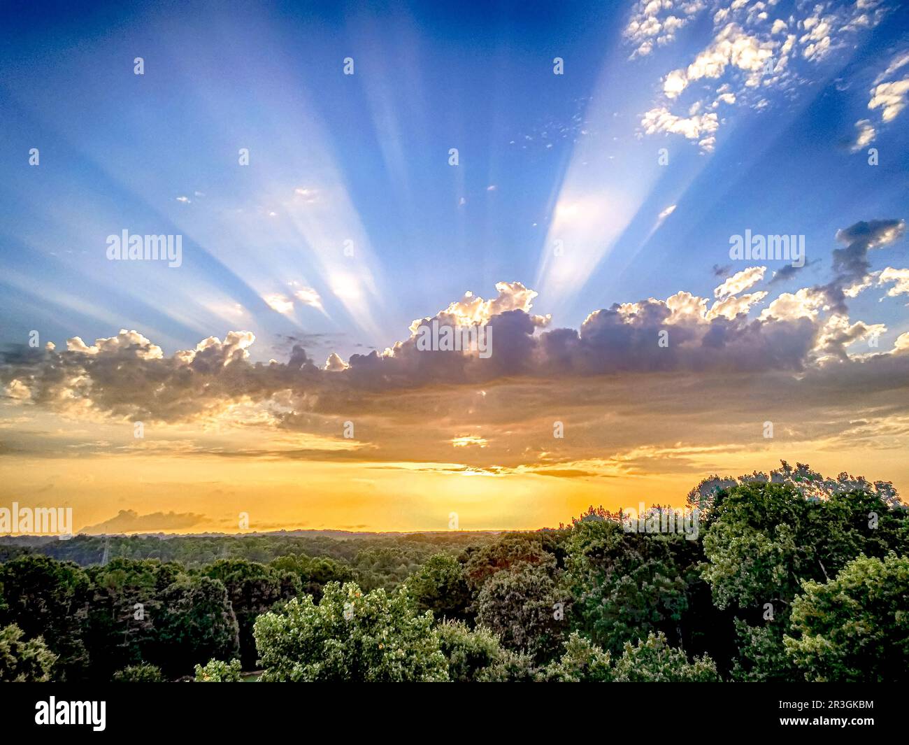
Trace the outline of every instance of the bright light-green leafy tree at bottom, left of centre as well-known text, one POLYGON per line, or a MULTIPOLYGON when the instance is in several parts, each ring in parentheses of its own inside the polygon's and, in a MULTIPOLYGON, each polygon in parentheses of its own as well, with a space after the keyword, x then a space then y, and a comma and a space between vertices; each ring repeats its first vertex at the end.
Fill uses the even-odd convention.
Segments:
POLYGON ((432 614, 406 592, 331 582, 318 605, 292 599, 256 619, 254 634, 265 681, 448 680, 432 614))

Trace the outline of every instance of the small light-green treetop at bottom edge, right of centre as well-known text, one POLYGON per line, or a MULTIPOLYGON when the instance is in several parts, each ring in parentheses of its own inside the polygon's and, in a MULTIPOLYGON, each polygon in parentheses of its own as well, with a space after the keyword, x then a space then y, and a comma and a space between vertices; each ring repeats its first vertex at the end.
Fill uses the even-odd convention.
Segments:
POLYGON ((714 683, 720 677, 714 660, 706 655, 689 662, 684 649, 670 647, 661 632, 647 634, 635 646, 626 641, 622 657, 615 661, 617 683, 714 683))

